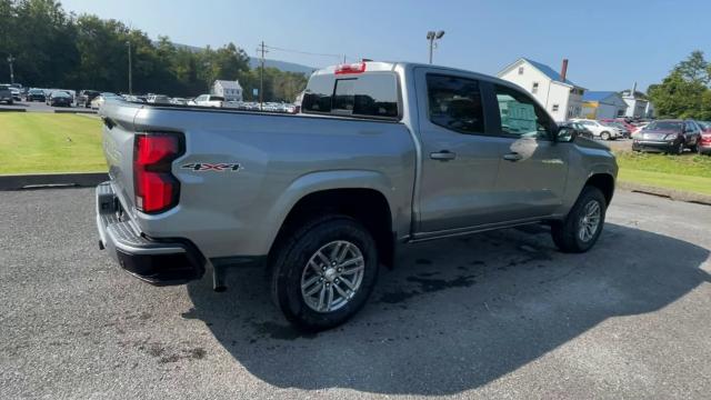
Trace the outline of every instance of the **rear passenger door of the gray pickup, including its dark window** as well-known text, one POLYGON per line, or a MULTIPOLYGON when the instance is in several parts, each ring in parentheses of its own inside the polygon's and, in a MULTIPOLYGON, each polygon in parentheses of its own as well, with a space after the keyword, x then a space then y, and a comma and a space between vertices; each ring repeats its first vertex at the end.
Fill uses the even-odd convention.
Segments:
MULTIPOLYGON (((418 232, 467 229, 495 221, 495 178, 504 139, 483 101, 491 83, 465 72, 414 70, 421 141, 415 193, 418 232)), ((492 96, 489 93, 489 96, 492 96)))

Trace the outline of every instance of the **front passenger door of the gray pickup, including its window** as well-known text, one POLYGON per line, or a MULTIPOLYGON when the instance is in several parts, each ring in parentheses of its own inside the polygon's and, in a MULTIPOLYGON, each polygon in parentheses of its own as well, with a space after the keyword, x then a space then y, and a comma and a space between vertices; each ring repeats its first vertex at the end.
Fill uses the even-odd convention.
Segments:
POLYGON ((521 90, 493 84, 489 101, 498 108, 495 123, 504 144, 493 213, 507 221, 550 216, 562 204, 572 143, 553 140, 555 123, 521 90))

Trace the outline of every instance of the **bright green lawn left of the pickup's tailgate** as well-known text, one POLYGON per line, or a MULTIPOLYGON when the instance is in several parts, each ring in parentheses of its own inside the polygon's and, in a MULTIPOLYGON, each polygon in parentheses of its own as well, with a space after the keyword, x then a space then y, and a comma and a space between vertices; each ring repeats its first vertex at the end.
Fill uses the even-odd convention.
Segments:
POLYGON ((98 118, 0 112, 0 174, 106 170, 98 118))

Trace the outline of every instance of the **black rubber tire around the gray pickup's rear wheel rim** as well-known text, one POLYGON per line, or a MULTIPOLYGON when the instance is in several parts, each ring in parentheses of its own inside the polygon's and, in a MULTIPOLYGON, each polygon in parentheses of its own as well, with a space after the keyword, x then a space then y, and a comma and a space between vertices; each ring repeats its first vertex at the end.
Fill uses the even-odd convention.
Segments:
POLYGON ((287 320, 304 331, 322 331, 349 320, 365 304, 378 277, 375 241, 360 222, 347 216, 327 216, 303 223, 281 240, 271 260, 272 299, 287 320), (317 311, 302 294, 302 274, 317 251, 340 240, 354 244, 362 253, 363 277, 353 297, 341 308, 317 311))

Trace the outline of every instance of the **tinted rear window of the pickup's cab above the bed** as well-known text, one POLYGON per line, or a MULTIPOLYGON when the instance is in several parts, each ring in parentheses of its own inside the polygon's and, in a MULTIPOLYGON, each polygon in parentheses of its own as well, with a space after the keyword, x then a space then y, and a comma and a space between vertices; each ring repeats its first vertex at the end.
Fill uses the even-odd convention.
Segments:
POLYGON ((309 79, 302 112, 399 120, 398 77, 391 71, 318 73, 309 79))

